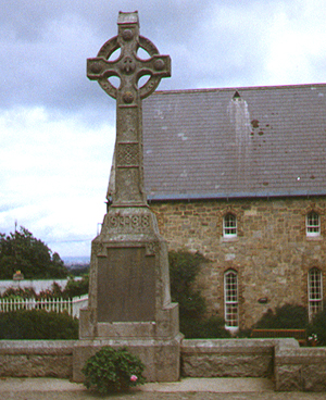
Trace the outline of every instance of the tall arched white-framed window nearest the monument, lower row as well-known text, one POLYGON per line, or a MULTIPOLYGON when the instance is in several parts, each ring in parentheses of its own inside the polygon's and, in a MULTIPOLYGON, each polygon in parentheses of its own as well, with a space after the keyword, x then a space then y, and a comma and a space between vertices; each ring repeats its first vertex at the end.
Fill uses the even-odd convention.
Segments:
POLYGON ((224 274, 224 318, 226 328, 238 327, 238 274, 234 270, 224 274))

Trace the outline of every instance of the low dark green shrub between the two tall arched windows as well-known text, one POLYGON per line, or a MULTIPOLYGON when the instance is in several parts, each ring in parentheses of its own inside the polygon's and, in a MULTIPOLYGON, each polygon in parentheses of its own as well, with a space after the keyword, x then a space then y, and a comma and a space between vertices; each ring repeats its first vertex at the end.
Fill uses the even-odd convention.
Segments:
POLYGON ((254 325, 256 329, 306 329, 308 311, 303 305, 285 304, 269 309, 254 325))

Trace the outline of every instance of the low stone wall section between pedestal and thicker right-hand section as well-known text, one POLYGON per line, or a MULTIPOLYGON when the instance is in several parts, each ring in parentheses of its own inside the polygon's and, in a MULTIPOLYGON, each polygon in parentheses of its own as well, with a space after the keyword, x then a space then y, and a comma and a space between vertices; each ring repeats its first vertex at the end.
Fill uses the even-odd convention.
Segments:
POLYGON ((272 376, 274 347, 274 339, 184 339, 181 375, 272 376))

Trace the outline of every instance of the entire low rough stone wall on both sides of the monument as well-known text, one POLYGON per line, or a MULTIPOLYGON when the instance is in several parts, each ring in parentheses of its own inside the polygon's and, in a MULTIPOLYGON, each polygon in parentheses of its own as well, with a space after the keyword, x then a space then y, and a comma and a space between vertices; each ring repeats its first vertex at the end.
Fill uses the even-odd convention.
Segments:
MULTIPOLYGON (((78 342, 78 341, 77 341, 78 342)), ((74 340, 0 340, 0 376, 72 378, 74 340)), ((294 339, 184 339, 188 377, 272 377, 283 391, 326 391, 326 348, 294 339)))

